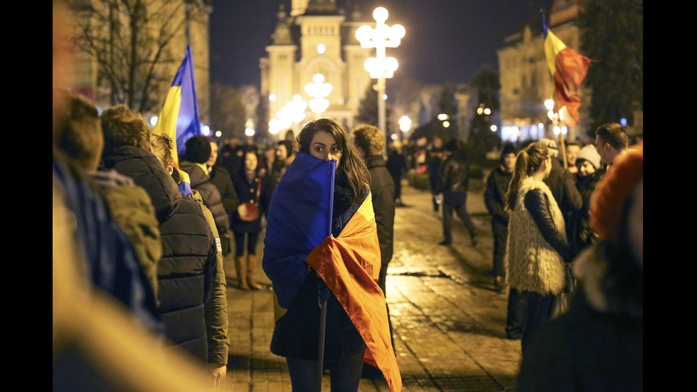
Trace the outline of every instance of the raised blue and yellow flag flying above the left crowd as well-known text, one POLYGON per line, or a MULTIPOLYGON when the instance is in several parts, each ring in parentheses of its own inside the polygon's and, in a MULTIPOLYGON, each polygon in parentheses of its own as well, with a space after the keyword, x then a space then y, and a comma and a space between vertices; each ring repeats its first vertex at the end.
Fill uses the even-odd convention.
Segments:
POLYGON ((166 134, 176 144, 172 147, 174 165, 179 167, 179 154, 184 154, 186 141, 201 134, 201 120, 198 118, 196 82, 193 78, 193 58, 191 46, 186 46, 186 55, 174 76, 167 97, 164 100, 154 134, 166 134))

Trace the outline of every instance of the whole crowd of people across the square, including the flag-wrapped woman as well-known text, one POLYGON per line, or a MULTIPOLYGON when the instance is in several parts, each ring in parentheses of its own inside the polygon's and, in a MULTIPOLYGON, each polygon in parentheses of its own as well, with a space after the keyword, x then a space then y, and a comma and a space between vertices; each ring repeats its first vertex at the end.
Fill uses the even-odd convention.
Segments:
MULTIPOLYGON (((455 212, 476 246, 462 143, 436 138, 406 154, 396 144, 385 159, 380 129, 319 119, 272 146, 196 136, 178 151, 128 107, 100 112, 63 92, 56 17, 54 389, 220 386, 223 257, 233 253, 239 290, 260 290, 265 223, 278 305, 270 350, 287 359, 294 390, 316 390, 326 363, 332 391, 356 391, 368 363, 400 391, 385 278, 401 179, 422 167, 442 245, 454 242, 455 212)), ((523 352, 518 390, 641 390, 643 144, 629 147, 613 123, 561 155, 550 139, 506 146, 486 179, 494 285, 510 287, 506 335, 523 352)))

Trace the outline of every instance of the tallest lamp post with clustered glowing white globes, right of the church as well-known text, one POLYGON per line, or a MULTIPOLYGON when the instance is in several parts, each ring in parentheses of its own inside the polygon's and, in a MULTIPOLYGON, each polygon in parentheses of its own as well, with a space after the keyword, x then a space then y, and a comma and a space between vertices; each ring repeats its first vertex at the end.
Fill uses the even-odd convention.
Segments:
POLYGON ((371 78, 377 79, 378 83, 373 88, 378 92, 378 128, 383 132, 385 129, 385 78, 392 78, 397 69, 397 60, 393 57, 385 57, 385 48, 396 48, 404 36, 404 28, 398 24, 388 26, 385 21, 388 11, 383 7, 378 7, 373 11, 377 25, 372 28, 363 25, 356 30, 356 39, 363 48, 376 48, 376 57, 371 57, 364 64, 366 70, 371 73, 371 78))

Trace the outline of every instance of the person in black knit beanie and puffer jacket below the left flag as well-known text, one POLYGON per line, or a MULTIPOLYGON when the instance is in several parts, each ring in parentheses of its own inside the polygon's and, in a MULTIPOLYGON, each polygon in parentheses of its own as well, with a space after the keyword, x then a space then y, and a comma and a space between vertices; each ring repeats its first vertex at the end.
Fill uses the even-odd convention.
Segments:
POLYGON ((223 206, 223 196, 213 182, 206 162, 211 158, 211 139, 205 136, 194 136, 186 141, 186 161, 179 167, 191 179, 191 189, 195 189, 203 198, 203 205, 208 207, 216 219, 216 227, 221 238, 225 237, 230 228, 230 218, 223 206))

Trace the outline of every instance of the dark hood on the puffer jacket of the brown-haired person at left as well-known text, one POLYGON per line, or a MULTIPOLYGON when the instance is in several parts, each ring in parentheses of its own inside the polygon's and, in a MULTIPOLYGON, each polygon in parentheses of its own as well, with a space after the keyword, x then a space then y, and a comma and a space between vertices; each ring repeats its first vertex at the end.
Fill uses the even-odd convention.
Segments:
POLYGON ((179 206, 181 194, 174 179, 151 152, 139 147, 118 147, 102 155, 102 165, 142 186, 150 196, 158 221, 166 221, 179 206))

